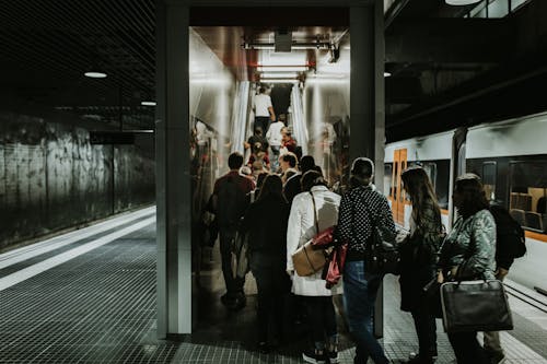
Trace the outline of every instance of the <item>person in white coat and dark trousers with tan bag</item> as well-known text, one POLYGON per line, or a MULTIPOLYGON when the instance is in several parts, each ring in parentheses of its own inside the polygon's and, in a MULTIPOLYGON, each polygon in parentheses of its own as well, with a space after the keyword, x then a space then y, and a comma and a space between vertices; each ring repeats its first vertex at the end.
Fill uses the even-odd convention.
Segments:
POLYGON ((302 176, 302 190, 304 192, 294 197, 287 228, 287 272, 292 279, 292 292, 301 296, 307 308, 313 342, 313 347, 304 350, 302 356, 313 364, 325 363, 327 359, 330 363, 338 363, 338 331, 331 296, 341 293, 341 289, 337 285, 327 290, 321 271, 300 277, 294 272, 291 256, 318 233, 314 209, 319 231, 336 224, 340 196, 328 190, 325 179, 316 171, 302 176))

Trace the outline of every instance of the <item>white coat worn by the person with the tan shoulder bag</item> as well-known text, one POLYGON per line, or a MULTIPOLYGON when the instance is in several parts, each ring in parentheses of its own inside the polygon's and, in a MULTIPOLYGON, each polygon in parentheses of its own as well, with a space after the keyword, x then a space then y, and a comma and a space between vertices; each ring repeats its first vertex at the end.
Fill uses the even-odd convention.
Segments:
MULTIPOLYGON (((312 193, 317 209, 317 220, 319 231, 336 225, 338 222, 338 207, 340 206, 340 196, 328 190, 325 186, 312 187, 312 193)), ((287 270, 294 271, 292 265, 292 254, 312 237, 317 234, 313 212, 312 196, 310 192, 302 192, 294 197, 289 215, 289 225, 287 228, 287 270)), ((325 280, 321 279, 321 270, 309 277, 300 277, 294 272, 292 274, 292 293, 301 296, 330 296, 341 293, 340 283, 335 287, 327 290, 325 280)), ((341 280, 340 280, 341 281, 341 280)))

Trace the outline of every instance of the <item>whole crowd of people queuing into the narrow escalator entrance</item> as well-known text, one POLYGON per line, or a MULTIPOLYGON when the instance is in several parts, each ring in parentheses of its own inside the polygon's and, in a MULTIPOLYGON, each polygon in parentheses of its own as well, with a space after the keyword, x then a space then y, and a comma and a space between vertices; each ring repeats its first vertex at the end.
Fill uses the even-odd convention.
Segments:
MULTIPOLYGON (((270 106, 267 110, 269 116, 259 116, 254 134, 245 143, 251 149, 247 163, 241 153, 232 153, 228 161, 230 172, 214 184, 226 287, 222 304, 233 310, 246 304, 244 278, 233 272, 231 244, 236 234, 247 234, 248 263, 257 285, 260 351, 268 352, 283 342, 287 310, 303 310, 309 332, 309 343, 302 348, 303 360, 338 363, 333 296, 342 294, 345 319, 356 343, 354 363, 364 364, 369 359, 389 363, 373 330, 374 305, 384 275, 371 273, 366 267, 366 246, 377 228, 384 240, 397 243, 401 256, 400 308, 410 313, 418 337, 417 353, 406 363, 434 363, 435 313, 424 286, 455 277, 493 279, 501 274, 496 262, 496 224, 480 178, 473 174, 457 178, 453 203, 458 218, 446 235, 426 171, 406 169, 401 181, 412 212, 410 230, 403 235, 396 231, 386 197, 373 184, 374 164, 370 158, 356 158, 349 186, 341 196, 335 193, 314 158, 294 153, 296 142, 282 118, 269 125, 270 119, 266 118, 275 120, 275 115, 270 106), (266 137, 263 127, 268 128, 266 137), (321 270, 299 275, 291 259, 300 247, 329 226, 336 226, 335 240, 348 246, 342 280, 334 286, 326 285, 321 270)), ((507 269, 503 271, 507 273, 507 269)), ((459 364, 503 360, 496 332, 485 333, 484 347, 475 331, 449 333, 449 339, 459 364)))

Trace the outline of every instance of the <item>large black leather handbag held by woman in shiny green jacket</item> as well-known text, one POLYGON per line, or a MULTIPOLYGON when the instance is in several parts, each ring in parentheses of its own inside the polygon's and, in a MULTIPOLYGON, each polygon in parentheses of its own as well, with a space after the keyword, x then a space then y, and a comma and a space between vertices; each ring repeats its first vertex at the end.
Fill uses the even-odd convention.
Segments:
POLYGON ((498 280, 443 283, 441 304, 446 332, 513 329, 503 283, 498 280))

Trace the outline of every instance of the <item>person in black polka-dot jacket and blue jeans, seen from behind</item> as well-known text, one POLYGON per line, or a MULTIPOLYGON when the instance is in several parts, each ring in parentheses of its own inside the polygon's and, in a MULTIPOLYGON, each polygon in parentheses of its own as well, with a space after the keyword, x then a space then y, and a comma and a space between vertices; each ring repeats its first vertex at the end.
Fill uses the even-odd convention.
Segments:
POLYGON ((340 201, 336 236, 348 242, 344 268, 344 301, 350 331, 356 340, 356 364, 388 363, 384 350, 374 338, 372 318, 376 293, 383 275, 366 272, 365 246, 376 225, 385 240, 395 240, 395 223, 387 199, 372 184, 374 164, 358 157, 351 165, 350 189, 340 201))

